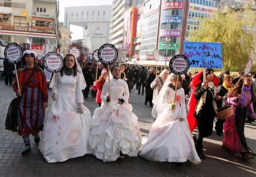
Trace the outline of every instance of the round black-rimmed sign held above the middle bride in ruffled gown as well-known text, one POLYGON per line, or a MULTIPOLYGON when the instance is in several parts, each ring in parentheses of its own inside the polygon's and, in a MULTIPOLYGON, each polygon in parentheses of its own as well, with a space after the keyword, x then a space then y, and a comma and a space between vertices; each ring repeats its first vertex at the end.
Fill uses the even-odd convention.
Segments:
POLYGON ((103 44, 98 51, 98 58, 106 65, 113 64, 118 57, 118 51, 113 44, 103 44))

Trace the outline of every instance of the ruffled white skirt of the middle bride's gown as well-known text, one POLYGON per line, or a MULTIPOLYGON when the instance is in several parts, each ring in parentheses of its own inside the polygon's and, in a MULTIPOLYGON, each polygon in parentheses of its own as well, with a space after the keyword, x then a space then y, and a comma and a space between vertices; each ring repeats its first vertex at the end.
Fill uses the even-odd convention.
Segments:
POLYGON ((102 103, 92 117, 87 153, 103 162, 115 161, 120 152, 135 157, 141 140, 138 118, 132 113, 131 104, 102 103))

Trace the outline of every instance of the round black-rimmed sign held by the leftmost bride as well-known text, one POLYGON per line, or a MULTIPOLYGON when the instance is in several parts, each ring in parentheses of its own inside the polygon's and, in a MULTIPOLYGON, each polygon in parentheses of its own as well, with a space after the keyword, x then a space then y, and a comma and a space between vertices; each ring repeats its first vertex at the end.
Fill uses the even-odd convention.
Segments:
POLYGON ((44 56, 44 68, 51 73, 58 73, 63 68, 63 58, 56 52, 44 56))

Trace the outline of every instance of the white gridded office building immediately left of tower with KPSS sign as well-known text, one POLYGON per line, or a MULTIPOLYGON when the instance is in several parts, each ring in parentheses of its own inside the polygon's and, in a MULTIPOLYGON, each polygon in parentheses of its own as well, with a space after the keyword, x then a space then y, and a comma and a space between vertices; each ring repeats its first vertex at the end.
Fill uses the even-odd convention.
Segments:
POLYGON ((144 1, 140 59, 146 58, 147 55, 153 55, 157 48, 159 12, 160 0, 144 1))

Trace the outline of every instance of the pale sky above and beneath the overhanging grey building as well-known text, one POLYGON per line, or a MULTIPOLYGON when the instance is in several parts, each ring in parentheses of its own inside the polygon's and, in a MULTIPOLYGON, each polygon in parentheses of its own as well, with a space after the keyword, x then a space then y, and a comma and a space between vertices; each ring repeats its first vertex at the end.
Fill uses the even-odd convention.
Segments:
MULTIPOLYGON (((60 0, 60 16, 59 21, 64 22, 64 9, 65 7, 74 6, 90 6, 90 5, 109 5, 112 0, 60 0)), ((83 38, 83 28, 70 25, 70 31, 73 32, 72 40, 83 38)))

